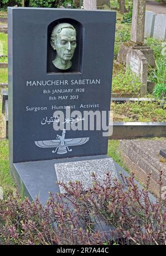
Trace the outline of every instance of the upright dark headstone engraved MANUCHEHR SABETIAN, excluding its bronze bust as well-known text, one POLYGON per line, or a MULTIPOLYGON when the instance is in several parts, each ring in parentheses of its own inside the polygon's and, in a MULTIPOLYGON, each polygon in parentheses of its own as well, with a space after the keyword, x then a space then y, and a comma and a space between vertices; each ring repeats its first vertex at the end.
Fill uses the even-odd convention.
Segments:
POLYGON ((116 12, 111 11, 8 8, 12 173, 18 163, 107 155, 108 137, 102 136, 102 130, 68 131, 66 119, 65 146, 57 146, 57 135, 62 136, 63 130, 54 129, 59 118, 54 112, 66 115, 70 106, 71 111, 81 112, 81 121, 84 111, 110 110, 115 23, 116 12), (52 63, 55 51, 50 35, 58 23, 72 24, 77 34, 72 66, 65 71, 52 63))

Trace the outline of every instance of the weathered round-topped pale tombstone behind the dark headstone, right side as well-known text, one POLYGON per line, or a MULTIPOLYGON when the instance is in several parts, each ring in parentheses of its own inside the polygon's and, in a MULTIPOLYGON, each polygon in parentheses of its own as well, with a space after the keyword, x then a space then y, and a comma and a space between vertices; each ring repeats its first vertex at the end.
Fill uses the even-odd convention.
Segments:
POLYGON ((126 67, 137 74, 142 82, 141 96, 147 94, 148 62, 141 50, 130 50, 127 54, 126 67))

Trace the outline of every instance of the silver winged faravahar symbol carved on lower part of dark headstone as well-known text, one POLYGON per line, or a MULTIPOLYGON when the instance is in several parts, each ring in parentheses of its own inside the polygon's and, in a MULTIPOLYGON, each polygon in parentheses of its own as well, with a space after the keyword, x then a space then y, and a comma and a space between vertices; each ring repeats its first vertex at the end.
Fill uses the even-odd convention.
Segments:
POLYGON ((51 147, 56 147, 55 150, 53 150, 53 153, 58 153, 59 155, 63 155, 65 153, 68 153, 72 151, 72 149, 69 149, 71 146, 80 146, 85 144, 87 141, 89 141, 89 138, 75 138, 75 139, 65 139, 66 130, 63 130, 63 134, 57 135, 56 140, 46 140, 46 141, 35 141, 35 145, 38 147, 42 147, 43 149, 48 149, 51 147))

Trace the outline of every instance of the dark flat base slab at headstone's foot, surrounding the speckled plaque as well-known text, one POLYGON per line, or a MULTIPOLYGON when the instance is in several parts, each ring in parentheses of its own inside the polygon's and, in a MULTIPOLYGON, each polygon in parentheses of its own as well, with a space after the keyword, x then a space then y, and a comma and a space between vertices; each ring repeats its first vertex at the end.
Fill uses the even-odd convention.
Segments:
POLYGON ((117 176, 118 179, 121 179, 121 173, 128 176, 128 173, 107 155, 14 163, 13 175, 20 193, 31 200, 35 200, 36 196, 38 196, 40 202, 45 204, 49 198, 49 192, 60 193, 60 188, 57 184, 59 178, 55 172, 55 165, 71 165, 71 163, 76 164, 76 162, 80 163, 80 161, 83 165, 87 161, 111 162, 112 167, 110 166, 109 170, 113 171, 113 176, 117 176))

